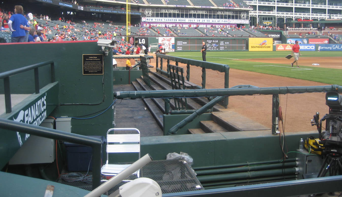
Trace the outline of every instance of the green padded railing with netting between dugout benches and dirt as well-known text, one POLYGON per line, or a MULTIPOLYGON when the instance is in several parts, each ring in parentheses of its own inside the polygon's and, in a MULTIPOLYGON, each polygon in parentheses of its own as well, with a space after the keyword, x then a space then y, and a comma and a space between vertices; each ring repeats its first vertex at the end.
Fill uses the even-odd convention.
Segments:
MULTIPOLYGON (((160 73, 170 76, 170 70, 163 70, 163 59, 167 60, 167 65, 170 64, 170 60, 176 62, 175 65, 178 66, 178 63, 186 64, 186 80, 190 80, 190 65, 198 66, 202 68, 202 87, 198 86, 197 89, 205 89, 206 88, 206 69, 212 69, 224 73, 224 88, 229 88, 229 66, 224 64, 212 63, 212 62, 204 62, 199 60, 191 60, 182 57, 174 57, 170 55, 156 55, 156 70, 160 71, 160 73), (160 58, 160 68, 158 68, 158 58, 160 58)), ((228 97, 225 97, 223 100, 223 105, 225 108, 228 107, 228 97)))

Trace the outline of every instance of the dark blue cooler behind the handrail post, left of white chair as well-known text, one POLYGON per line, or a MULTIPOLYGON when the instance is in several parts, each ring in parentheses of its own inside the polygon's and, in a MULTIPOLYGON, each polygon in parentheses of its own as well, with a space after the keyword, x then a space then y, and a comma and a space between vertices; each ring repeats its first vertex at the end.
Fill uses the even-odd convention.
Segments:
MULTIPOLYGON (((103 153, 105 151, 105 142, 106 139, 104 136, 99 135, 88 135, 89 137, 95 137, 101 139, 102 141, 102 151, 101 151, 101 159, 103 161, 103 153)), ((89 171, 93 170, 93 163, 91 162, 92 159, 92 147, 84 146, 80 144, 74 144, 70 142, 64 142, 65 149, 66 149, 66 160, 67 160, 67 167, 68 171, 89 171)))

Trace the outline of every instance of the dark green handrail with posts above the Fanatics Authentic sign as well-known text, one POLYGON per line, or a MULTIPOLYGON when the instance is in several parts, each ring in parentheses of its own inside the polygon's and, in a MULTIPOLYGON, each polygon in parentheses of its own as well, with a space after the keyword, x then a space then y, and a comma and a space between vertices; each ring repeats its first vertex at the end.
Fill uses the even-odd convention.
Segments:
POLYGON ((55 82, 55 64, 53 61, 41 62, 38 64, 32 64, 22 68, 17 68, 14 70, 5 71, 0 73, 0 79, 3 79, 4 93, 5 93, 5 106, 6 114, 12 112, 12 102, 11 102, 11 90, 10 90, 10 76, 16 75, 18 73, 23 73, 28 70, 35 70, 35 93, 39 94, 39 72, 38 68, 50 64, 51 66, 51 83, 55 82))

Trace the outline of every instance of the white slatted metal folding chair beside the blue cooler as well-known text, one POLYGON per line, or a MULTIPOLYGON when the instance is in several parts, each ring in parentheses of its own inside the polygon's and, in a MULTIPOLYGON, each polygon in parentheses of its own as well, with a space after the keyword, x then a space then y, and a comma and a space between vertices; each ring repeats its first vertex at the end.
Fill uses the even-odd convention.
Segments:
MULTIPOLYGON (((115 176, 130 164, 110 164, 109 153, 138 153, 140 159, 140 131, 135 128, 112 128, 107 131, 107 161, 101 168, 102 181, 107 181, 107 177, 115 176), (120 132, 118 132, 120 131, 120 132), (113 133, 113 134, 111 134, 113 133), (117 133, 117 134, 116 134, 117 133), (132 134, 133 133, 133 134, 132 134)), ((111 162, 114 163, 114 162, 111 162)), ((116 162, 118 163, 118 162, 116 162)), ((140 170, 133 173, 136 178, 140 177, 140 170)), ((130 181, 130 180, 124 180, 130 181)))

